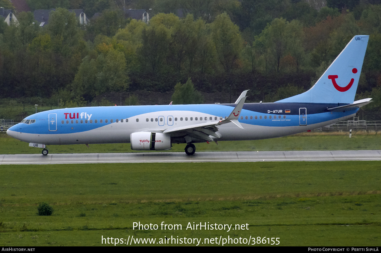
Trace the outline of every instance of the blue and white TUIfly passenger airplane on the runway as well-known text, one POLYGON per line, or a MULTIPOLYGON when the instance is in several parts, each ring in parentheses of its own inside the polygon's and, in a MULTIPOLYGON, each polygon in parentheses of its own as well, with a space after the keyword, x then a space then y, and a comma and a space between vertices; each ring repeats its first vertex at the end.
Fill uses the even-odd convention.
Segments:
POLYGON ((368 35, 356 35, 308 91, 274 103, 78 107, 27 116, 6 132, 29 146, 131 143, 131 150, 170 150, 186 143, 259 140, 328 126, 356 115, 371 99, 354 101, 368 35))

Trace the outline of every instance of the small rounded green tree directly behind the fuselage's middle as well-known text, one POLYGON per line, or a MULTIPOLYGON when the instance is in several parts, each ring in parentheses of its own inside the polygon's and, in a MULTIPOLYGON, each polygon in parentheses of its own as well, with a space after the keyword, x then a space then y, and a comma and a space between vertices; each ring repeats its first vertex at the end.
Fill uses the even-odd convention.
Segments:
POLYGON ((185 84, 177 83, 174 86, 172 101, 174 105, 197 104, 202 103, 203 97, 194 88, 191 78, 188 78, 185 84))

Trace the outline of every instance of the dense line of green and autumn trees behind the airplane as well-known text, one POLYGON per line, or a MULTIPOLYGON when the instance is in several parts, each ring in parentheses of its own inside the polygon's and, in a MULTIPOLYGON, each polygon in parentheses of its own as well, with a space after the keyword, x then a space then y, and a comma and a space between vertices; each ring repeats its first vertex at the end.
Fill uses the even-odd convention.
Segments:
POLYGON ((251 89, 249 102, 273 102, 309 89, 354 35, 368 34, 357 97, 381 105, 381 5, 343 1, 344 8, 336 1, 316 10, 304 1, 199 2, 139 1, 167 12, 149 24, 125 19, 111 2, 85 26, 65 8, 52 11, 43 28, 32 13, 19 13, 18 24, 0 22, 0 96, 74 106, 95 105, 109 92, 251 89), (178 7, 191 11, 180 19, 171 13, 178 7))

